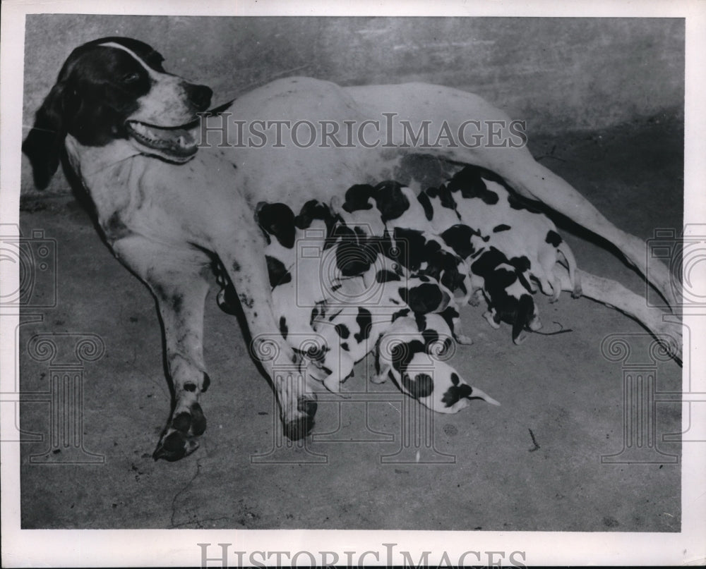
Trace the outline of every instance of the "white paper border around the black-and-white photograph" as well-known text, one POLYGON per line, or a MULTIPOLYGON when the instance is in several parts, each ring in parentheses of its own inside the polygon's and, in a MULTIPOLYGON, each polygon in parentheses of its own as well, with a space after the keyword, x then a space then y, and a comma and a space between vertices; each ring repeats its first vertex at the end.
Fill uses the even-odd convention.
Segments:
MULTIPOLYGON (((25 15, 30 13, 95 13, 160 16, 532 16, 532 17, 654 17, 686 18, 686 141, 684 223, 706 221, 706 2, 650 1, 496 1, 439 3, 358 1, 332 5, 323 1, 292 4, 285 1, 6 1, 0 32, 0 223, 19 224, 20 145, 23 108, 25 15), (441 10, 443 9, 443 13, 441 10)), ((0 286, 16 290, 17 274, 2 274, 0 286)), ((706 392, 703 358, 705 319, 686 314, 691 354, 685 354, 683 378, 690 391, 706 392), (690 376, 690 378, 689 378, 690 376)), ((16 330, 18 314, 0 314, 0 391, 14 384, 18 373, 16 330), (12 338, 10 340, 10 338, 12 338), (15 369, 13 369, 13 365, 15 369)), ((689 391, 685 387, 685 391, 689 391)), ((688 427, 688 403, 683 404, 683 428, 688 427)), ((705 417, 692 414, 690 427, 704 430, 705 417), (698 424, 695 424, 698 421, 698 424)), ((4 414, 1 428, 13 428, 14 417, 4 414)), ((430 563, 447 553, 452 561, 469 550, 524 551, 526 565, 556 564, 703 564, 706 561, 706 452, 703 445, 685 444, 682 463, 682 528, 678 533, 622 532, 396 532, 344 530, 20 530, 19 443, 0 446, 2 501, 2 564, 14 566, 164 566, 201 564, 199 543, 232 544, 229 551, 409 551, 414 560, 433 551, 430 563), (276 532, 276 533, 275 533, 276 532), (274 545, 276 544, 276 546, 274 545)), ((212 551, 212 550, 209 550, 212 551)), ((505 557, 507 558, 507 556, 505 557)), ((231 561, 234 557, 230 558, 231 561)), ((374 557, 370 557, 374 559, 374 557)), ((472 558, 471 558, 472 559, 472 558)), ((402 563, 398 555, 381 563, 402 563)), ((482 561, 486 561, 484 558, 482 561)), ((472 560, 475 563, 475 560, 472 560)), ((214 562, 216 565, 218 563, 214 562)), ((300 561, 302 563, 302 561, 300 561)))

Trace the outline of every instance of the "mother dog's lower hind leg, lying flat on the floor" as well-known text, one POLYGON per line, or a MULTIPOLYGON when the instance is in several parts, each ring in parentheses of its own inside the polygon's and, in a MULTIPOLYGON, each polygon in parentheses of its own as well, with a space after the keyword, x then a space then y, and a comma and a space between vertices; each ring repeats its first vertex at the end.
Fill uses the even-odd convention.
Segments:
MULTIPOLYGON (((561 279, 563 290, 573 290, 574 283, 566 268, 557 264, 554 271, 561 279)), ((664 317, 668 316, 668 313, 647 306, 645 298, 633 293, 616 281, 603 279, 580 269, 576 270, 576 276, 581 279, 583 296, 620 310, 640 322, 650 331, 650 334, 657 338, 669 354, 681 363, 681 324, 665 321, 664 317)))

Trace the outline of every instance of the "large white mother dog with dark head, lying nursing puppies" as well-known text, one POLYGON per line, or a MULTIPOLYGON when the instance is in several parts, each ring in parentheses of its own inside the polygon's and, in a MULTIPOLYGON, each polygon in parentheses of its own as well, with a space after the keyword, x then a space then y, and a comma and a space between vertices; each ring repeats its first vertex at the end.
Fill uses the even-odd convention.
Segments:
MULTIPOLYGON (((400 133, 388 145, 365 147, 255 148, 225 142, 199 149, 193 121, 210 106, 211 90, 167 73, 163 59, 148 44, 124 37, 78 47, 37 111, 23 150, 39 187, 47 185, 65 151, 95 204, 107 244, 157 299, 174 405, 155 458, 177 460, 192 452, 198 446, 195 437, 205 429, 198 399, 209 383, 203 309, 205 275, 214 262, 235 286, 253 339, 268 338, 276 345, 278 362, 292 362, 283 368, 271 357, 260 357, 273 381, 285 434, 298 439, 313 426, 316 400, 304 389, 292 348, 276 334, 255 206, 286 202, 298 211, 307 200, 328 202, 354 184, 388 178, 385 173, 400 156, 414 149, 400 146, 400 133)), ((342 88, 308 78, 277 80, 227 109, 234 120, 316 124, 325 119, 341 132, 348 121, 360 125, 390 111, 414 121, 445 122, 452 130, 469 120, 507 121, 483 99, 436 85, 342 88)), ((237 129, 228 135, 237 135, 237 129)), ((424 152, 484 166, 522 196, 606 238, 669 305, 677 306, 666 267, 651 265, 647 275, 642 240, 610 224, 527 149, 481 144, 424 152)), ((662 312, 648 309, 644 299, 599 277, 582 275, 582 283, 585 295, 628 312, 654 334, 673 334, 677 340, 671 350, 678 352, 678 329, 662 322, 662 312)))

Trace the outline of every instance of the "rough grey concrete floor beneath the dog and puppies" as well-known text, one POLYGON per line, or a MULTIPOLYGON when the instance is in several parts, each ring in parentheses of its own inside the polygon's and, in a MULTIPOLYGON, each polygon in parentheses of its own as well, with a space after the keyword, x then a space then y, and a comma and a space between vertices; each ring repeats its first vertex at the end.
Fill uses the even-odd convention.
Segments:
MULTIPOLYGON (((679 124, 659 117, 533 139, 530 148, 611 221, 650 238, 654 228, 682 226, 679 124)), ((678 403, 657 405, 657 443, 643 456, 651 462, 601 460, 623 448, 623 365, 606 360, 601 343, 609 334, 637 334, 628 342, 644 360, 651 342, 608 307, 568 294, 556 305, 541 298, 546 328, 558 322, 573 331, 532 335, 520 346, 507 326, 493 330, 480 309, 467 307, 474 345, 460 347, 453 364, 501 407, 474 402, 458 415, 410 422, 419 406, 390 384, 371 394, 361 365, 346 384, 352 400, 322 400, 313 436, 294 445, 278 438, 273 393, 212 293, 205 332, 212 385, 202 400, 208 430, 190 457, 155 463, 169 391, 152 297, 73 198, 27 201, 21 224, 24 235, 42 229, 56 240, 58 259, 56 307, 25 310, 20 326, 21 389, 39 393, 21 405, 21 427, 28 437, 44 434, 22 445, 23 528, 680 530, 681 448, 662 441, 681 430, 678 403), (31 314, 42 314, 41 322, 31 314), (54 360, 28 351, 44 333, 59 345, 54 360), (87 335, 100 338, 104 354, 79 369, 73 348, 87 335), (74 455, 52 446, 49 434, 63 431, 52 431, 49 398, 41 395, 69 360, 83 377, 85 452, 74 455), (426 432, 432 443, 415 446, 403 428, 426 432)), ((582 269, 644 291, 610 252, 563 233, 582 269)), ((652 368, 658 391, 681 390, 674 362, 652 368)))

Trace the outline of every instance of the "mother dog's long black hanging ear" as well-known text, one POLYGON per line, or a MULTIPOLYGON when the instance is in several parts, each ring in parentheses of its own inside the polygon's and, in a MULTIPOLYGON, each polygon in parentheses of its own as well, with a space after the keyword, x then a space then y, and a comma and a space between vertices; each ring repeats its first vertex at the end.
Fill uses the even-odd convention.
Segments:
POLYGON ((37 111, 35 124, 23 142, 22 151, 30 159, 35 185, 40 190, 49 185, 59 168, 68 128, 67 114, 71 112, 68 107, 72 106, 72 100, 66 82, 56 83, 37 111))

